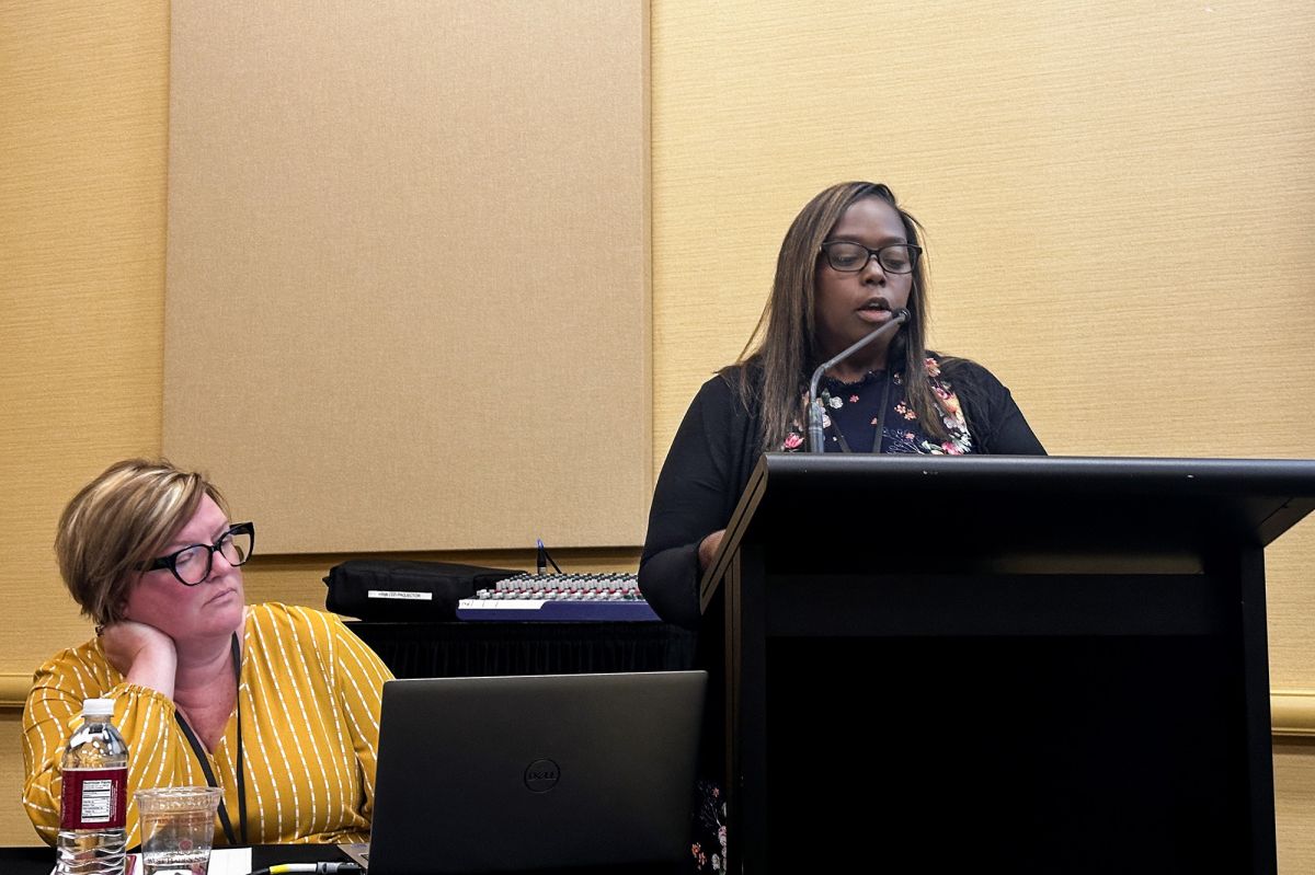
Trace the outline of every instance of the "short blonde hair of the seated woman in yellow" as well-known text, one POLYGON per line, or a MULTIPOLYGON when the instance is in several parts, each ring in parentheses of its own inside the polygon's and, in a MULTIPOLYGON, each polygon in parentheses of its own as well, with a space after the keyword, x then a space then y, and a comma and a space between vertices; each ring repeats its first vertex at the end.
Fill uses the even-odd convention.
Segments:
POLYGON ((114 462, 83 486, 55 535, 59 573, 82 612, 100 625, 124 619, 142 564, 160 554, 205 495, 227 514, 204 474, 164 460, 114 462))

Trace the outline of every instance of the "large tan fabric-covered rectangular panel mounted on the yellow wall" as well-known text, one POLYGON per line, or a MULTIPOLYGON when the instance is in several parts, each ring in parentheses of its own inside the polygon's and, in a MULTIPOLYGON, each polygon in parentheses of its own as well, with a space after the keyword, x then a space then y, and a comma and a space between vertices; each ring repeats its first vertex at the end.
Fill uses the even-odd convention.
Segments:
POLYGON ((275 553, 639 544, 647 4, 176 0, 171 51, 168 455, 275 553))

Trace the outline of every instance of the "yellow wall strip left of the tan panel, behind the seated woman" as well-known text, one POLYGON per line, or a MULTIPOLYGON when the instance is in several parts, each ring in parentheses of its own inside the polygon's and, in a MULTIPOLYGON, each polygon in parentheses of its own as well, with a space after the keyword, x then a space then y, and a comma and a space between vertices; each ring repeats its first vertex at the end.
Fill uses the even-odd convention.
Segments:
MULTIPOLYGON (((0 684, 84 640, 55 568, 63 505, 159 452, 168 11, 0 4, 0 684)), ((12 700, 12 699, 11 699, 12 700)), ((20 805, 20 712, 0 715, 0 845, 20 805)))

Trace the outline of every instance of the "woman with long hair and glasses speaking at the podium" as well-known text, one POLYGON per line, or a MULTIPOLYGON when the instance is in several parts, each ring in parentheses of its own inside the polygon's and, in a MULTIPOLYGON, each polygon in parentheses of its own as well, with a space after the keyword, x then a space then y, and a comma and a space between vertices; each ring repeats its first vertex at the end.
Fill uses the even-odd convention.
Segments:
MULTIPOLYGON (((772 296, 746 352, 704 384, 658 478, 639 587, 665 620, 700 627, 698 582, 764 452, 807 449, 815 368, 889 326, 819 384, 826 452, 1044 455, 1009 389, 984 367, 926 348, 926 256, 919 225, 877 183, 842 183, 796 217, 776 260, 772 296), (752 351, 751 351, 752 349, 752 351)), ((944 526, 952 536, 952 511, 944 526)), ((719 629, 710 629, 717 637, 719 629)), ((706 666, 717 671, 721 646, 706 666)), ((711 708, 718 712, 719 708, 711 708)), ((713 717, 715 720, 715 717, 713 717)), ((719 736, 718 729, 710 734, 719 736)), ((717 759, 721 742, 705 740, 717 759)), ((713 762, 706 775, 721 774, 713 762)), ((722 796, 701 787, 698 868, 723 864, 722 796)))

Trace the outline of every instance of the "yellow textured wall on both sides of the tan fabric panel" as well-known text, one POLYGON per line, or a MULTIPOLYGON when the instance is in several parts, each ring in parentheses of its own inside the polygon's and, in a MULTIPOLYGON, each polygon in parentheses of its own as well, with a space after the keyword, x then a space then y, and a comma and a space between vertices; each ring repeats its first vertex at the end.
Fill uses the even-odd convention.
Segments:
MULTIPOLYGON (((851 177, 927 225, 935 343, 1052 452, 1308 457, 1308 7, 654 0, 655 457, 743 346, 789 219, 851 177)), ((87 635, 50 554, 62 503, 159 449, 167 14, 0 7, 0 699, 87 635)), ((1273 684, 1315 688, 1315 524, 1266 558, 1273 684)), ((322 604, 333 561, 264 560, 251 598, 322 604)), ((16 713, 0 843, 33 841, 16 713)), ((1308 871, 1315 753, 1276 763, 1282 868, 1308 871)))

